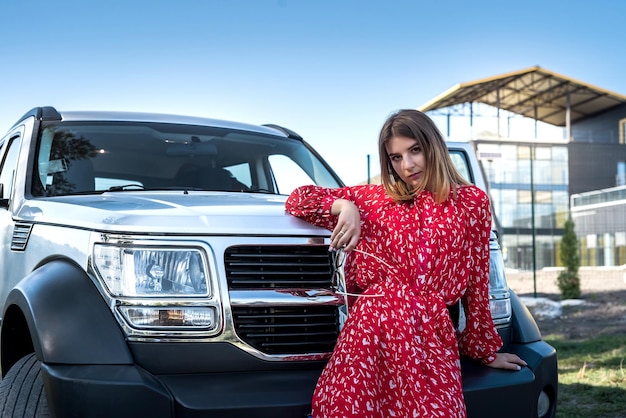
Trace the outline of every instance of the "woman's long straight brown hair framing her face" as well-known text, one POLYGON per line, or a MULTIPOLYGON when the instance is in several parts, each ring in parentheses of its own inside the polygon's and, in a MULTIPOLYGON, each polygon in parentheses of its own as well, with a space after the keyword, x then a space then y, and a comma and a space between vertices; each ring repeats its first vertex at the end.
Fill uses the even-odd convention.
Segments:
POLYGON ((448 199, 450 189, 454 193, 457 185, 469 184, 454 166, 445 139, 435 123, 418 110, 403 109, 389 116, 380 130, 378 153, 383 186, 396 202, 413 200, 416 194, 428 190, 433 193, 435 201, 441 203, 448 199), (385 144, 394 136, 415 139, 424 153, 426 170, 415 188, 405 183, 391 165, 385 144))

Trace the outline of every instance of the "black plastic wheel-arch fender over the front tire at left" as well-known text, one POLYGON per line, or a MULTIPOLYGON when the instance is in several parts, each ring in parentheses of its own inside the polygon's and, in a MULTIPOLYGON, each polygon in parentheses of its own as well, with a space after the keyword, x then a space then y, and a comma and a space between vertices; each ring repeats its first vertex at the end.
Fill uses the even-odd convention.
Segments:
POLYGON ((132 364, 132 356, 111 310, 85 271, 70 260, 50 261, 9 293, 2 323, 2 369, 28 353, 13 353, 24 336, 16 329, 23 315, 32 349, 44 363, 132 364), (17 358, 16 358, 17 357, 17 358), (5 364, 7 360, 9 364, 5 364))

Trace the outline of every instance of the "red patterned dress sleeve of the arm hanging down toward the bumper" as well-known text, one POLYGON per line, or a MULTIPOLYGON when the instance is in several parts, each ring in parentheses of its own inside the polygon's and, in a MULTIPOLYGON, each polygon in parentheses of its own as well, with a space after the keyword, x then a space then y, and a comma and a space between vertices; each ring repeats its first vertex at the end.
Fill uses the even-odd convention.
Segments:
POLYGON ((489 198, 479 193, 468 202, 467 265, 468 287, 463 296, 466 326, 459 338, 461 354, 489 362, 502 347, 489 309, 489 235, 491 210, 489 198))

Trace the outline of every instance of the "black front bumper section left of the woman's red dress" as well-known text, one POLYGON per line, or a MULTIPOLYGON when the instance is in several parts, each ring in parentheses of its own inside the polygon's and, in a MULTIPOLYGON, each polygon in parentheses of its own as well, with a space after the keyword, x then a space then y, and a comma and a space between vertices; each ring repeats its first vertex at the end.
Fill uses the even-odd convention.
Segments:
POLYGON ((141 366, 44 363, 50 412, 63 418, 304 418, 310 412, 323 362, 265 362, 230 344, 210 345, 131 344, 141 366))

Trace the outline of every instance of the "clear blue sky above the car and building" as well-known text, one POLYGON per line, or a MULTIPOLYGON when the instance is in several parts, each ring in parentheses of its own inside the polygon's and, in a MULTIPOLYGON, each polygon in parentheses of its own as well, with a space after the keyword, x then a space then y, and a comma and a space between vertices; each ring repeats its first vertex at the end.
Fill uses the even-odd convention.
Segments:
POLYGON ((457 83, 539 65, 626 94, 625 16, 613 0, 6 0, 0 134, 41 105, 277 123, 356 184, 368 154, 379 171, 386 117, 457 83))

